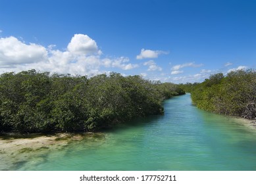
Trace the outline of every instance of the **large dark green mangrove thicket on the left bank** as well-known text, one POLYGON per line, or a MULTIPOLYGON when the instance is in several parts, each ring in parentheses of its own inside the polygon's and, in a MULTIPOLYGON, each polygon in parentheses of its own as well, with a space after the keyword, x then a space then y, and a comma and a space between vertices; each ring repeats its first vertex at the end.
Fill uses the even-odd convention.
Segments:
POLYGON ((95 131, 163 114, 163 100, 182 94, 178 85, 141 76, 9 72, 0 76, 0 131, 95 131))

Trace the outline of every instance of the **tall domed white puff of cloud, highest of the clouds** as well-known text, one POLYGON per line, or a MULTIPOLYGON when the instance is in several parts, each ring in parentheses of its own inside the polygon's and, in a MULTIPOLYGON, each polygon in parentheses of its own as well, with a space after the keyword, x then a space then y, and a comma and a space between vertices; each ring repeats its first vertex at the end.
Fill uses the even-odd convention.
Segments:
POLYGON ((75 34, 67 47, 70 53, 78 55, 91 55, 101 54, 101 51, 97 47, 97 43, 91 39, 88 35, 75 34))

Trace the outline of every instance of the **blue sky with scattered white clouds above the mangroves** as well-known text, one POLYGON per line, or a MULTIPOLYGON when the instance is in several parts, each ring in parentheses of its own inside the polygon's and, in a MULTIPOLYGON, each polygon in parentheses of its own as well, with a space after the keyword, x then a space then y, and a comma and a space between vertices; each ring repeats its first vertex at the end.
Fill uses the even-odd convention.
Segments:
POLYGON ((255 0, 0 0, 0 74, 201 82, 256 68, 255 0))

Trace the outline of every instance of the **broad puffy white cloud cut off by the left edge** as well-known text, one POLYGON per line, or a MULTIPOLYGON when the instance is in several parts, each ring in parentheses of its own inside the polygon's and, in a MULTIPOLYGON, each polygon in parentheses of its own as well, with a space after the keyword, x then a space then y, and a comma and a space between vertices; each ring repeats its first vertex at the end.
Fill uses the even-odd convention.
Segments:
POLYGON ((28 64, 47 60, 47 49, 41 45, 27 45, 16 37, 0 39, 0 66, 28 64))

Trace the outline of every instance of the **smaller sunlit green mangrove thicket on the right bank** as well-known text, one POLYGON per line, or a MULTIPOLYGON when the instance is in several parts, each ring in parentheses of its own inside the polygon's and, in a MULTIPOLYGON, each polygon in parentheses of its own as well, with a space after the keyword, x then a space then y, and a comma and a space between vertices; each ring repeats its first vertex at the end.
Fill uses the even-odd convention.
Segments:
POLYGON ((219 114, 256 118, 256 72, 238 70, 215 74, 191 85, 192 102, 203 110, 219 114))

